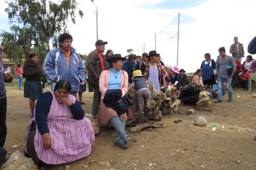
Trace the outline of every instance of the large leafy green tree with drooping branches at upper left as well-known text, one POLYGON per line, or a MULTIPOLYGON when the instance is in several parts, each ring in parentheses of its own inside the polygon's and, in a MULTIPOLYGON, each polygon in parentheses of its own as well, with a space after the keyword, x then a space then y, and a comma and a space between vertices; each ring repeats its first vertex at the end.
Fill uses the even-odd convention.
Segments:
MULTIPOLYGON (((76 0, 13 0, 7 3, 10 32, 0 34, 8 59, 21 62, 30 52, 43 62, 47 52, 58 46, 58 37, 67 30, 67 19, 75 24, 76 0)), ((79 10, 79 15, 83 12, 79 10)))

